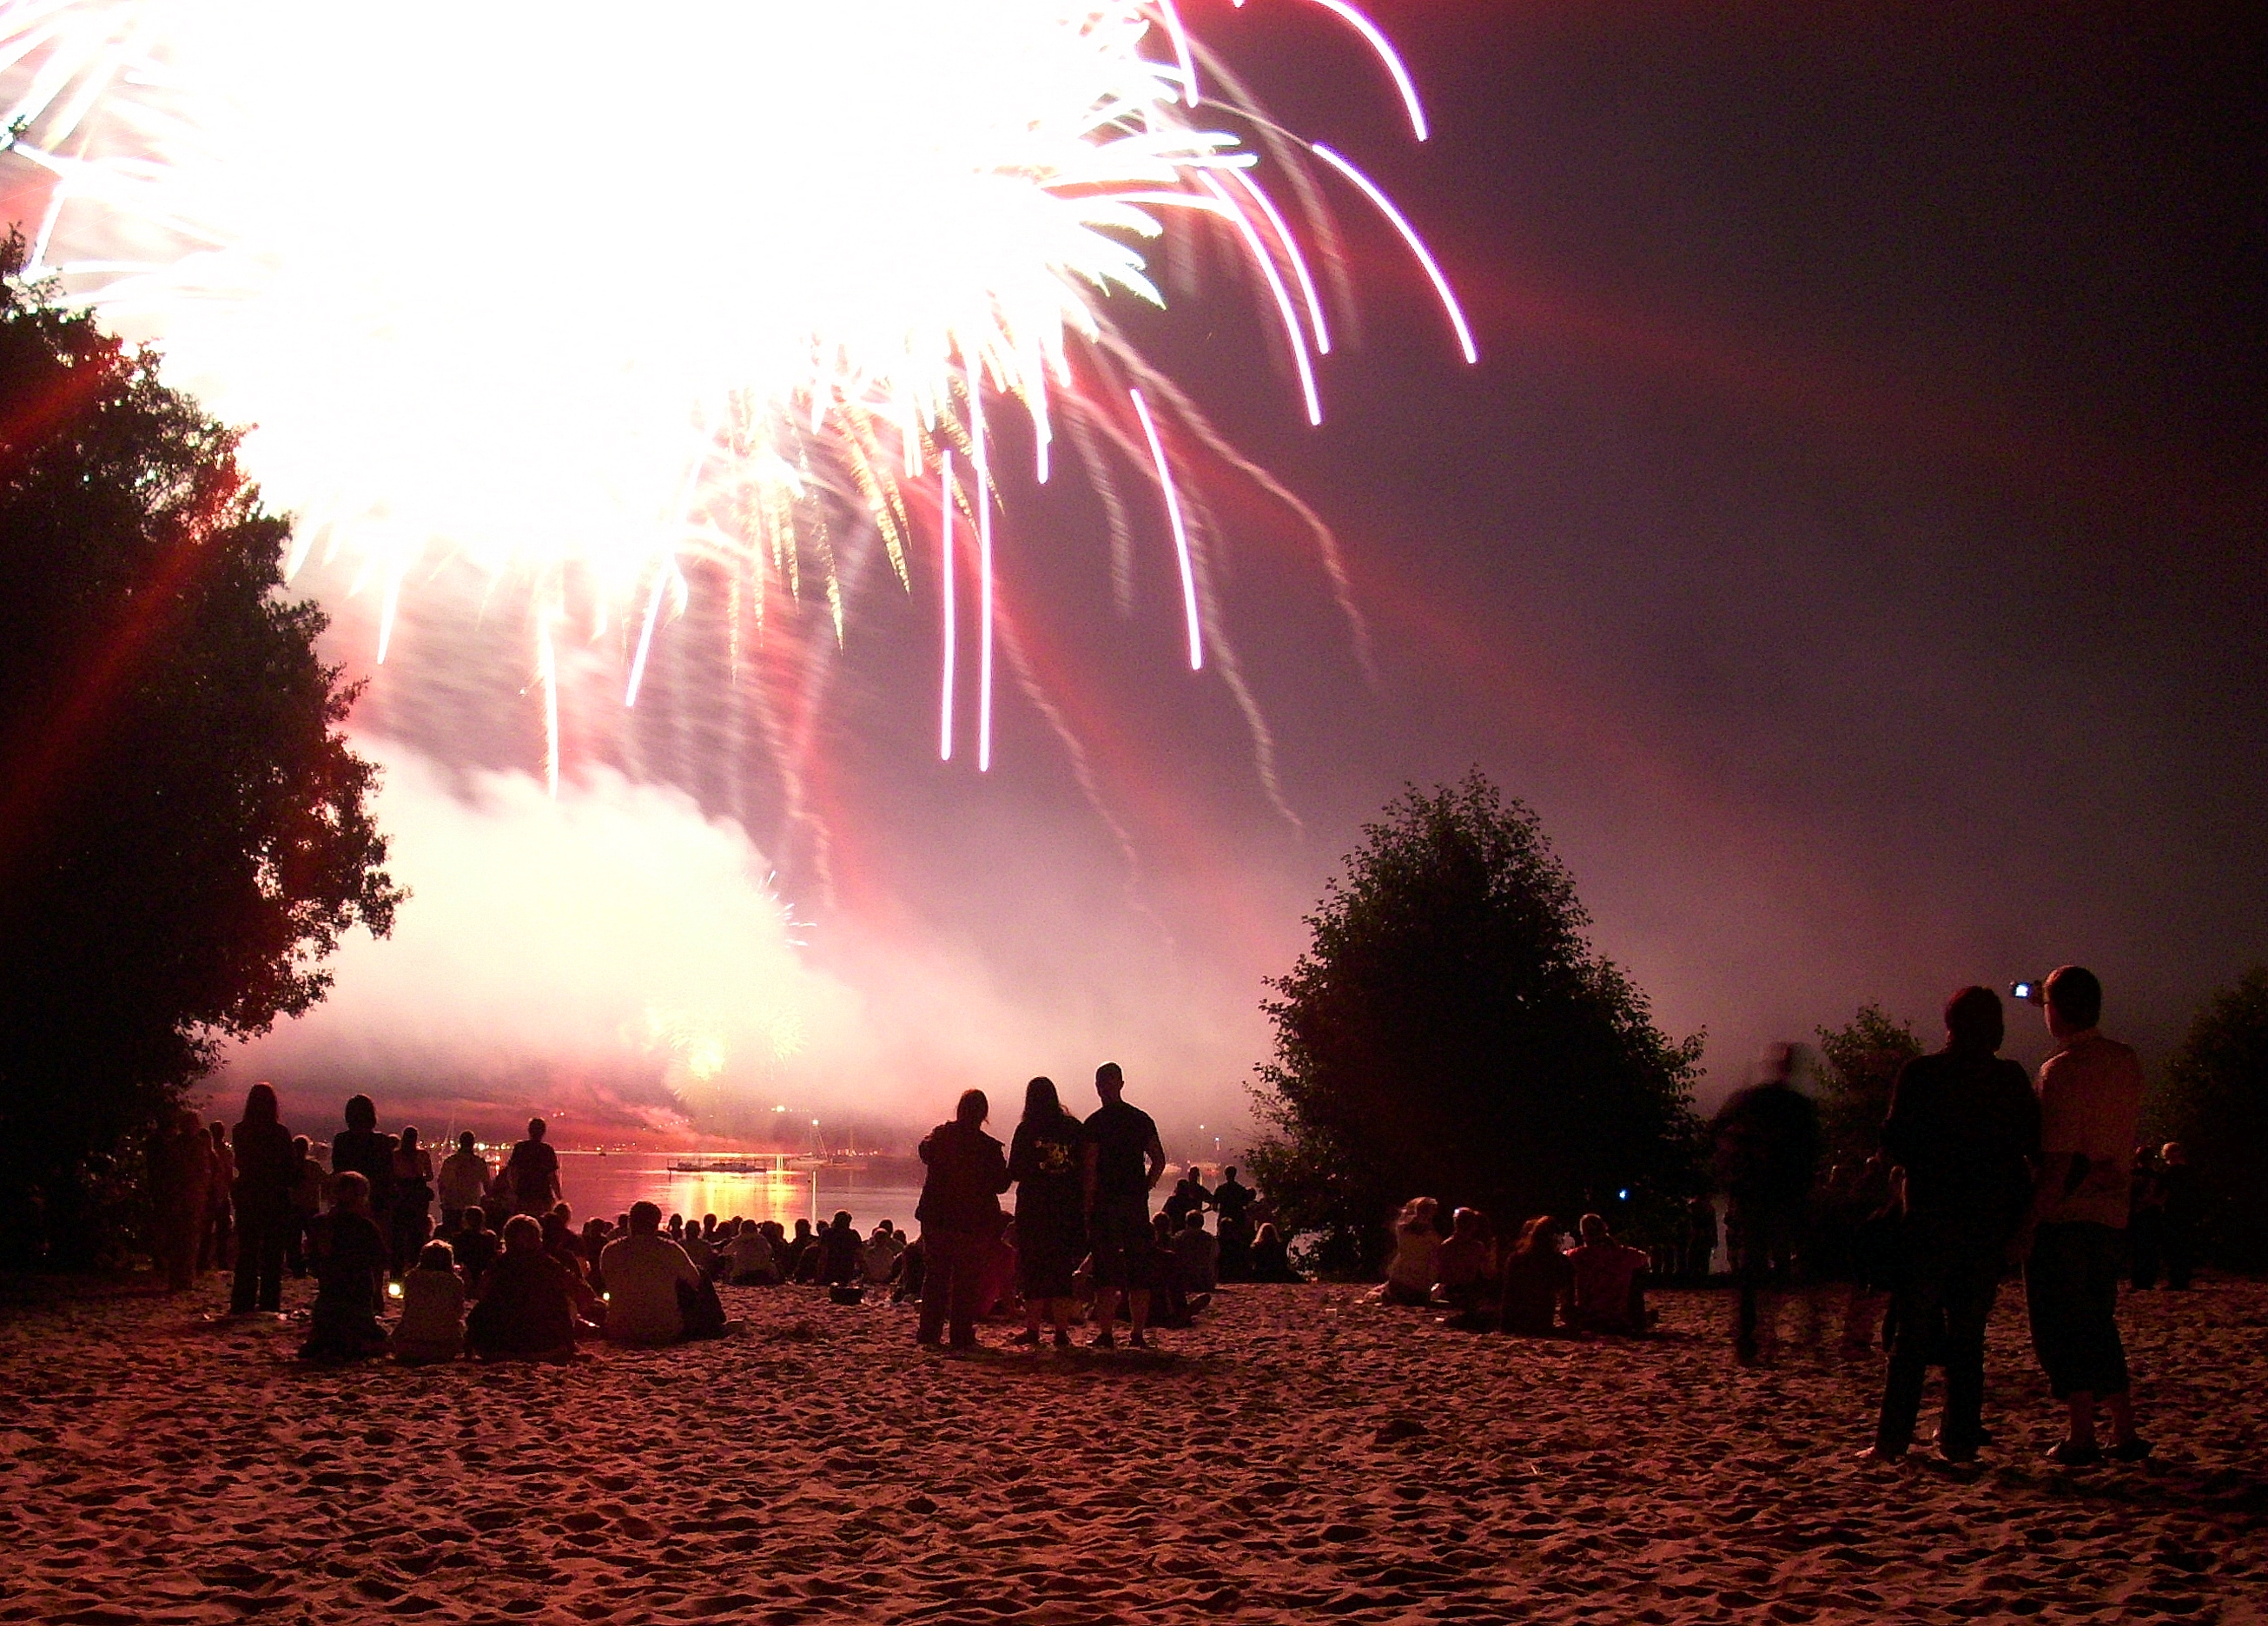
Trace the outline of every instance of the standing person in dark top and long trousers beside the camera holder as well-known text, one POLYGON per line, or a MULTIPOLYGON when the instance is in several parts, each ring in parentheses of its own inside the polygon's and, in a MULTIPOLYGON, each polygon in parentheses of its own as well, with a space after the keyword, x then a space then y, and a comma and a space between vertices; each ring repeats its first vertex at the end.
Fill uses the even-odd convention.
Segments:
POLYGON ((1937 1449, 1948 1463, 1978 1454, 1984 1322, 2039 1161, 2039 1098, 2023 1068, 1998 1055, 2003 1036, 2000 996, 1962 989, 1946 1000, 1946 1048, 1907 1061, 1889 1095, 1882 1152, 1905 1168, 1905 1272, 1871 1463, 1892 1463, 1914 1442, 1932 1345, 1946 1367, 1937 1449))

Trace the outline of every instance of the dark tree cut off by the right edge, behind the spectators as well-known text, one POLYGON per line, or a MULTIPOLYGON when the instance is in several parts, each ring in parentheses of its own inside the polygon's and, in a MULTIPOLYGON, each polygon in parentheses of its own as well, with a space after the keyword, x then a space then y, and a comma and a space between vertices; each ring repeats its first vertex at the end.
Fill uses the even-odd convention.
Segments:
POLYGON ((2150 1125, 2195 1168, 2207 1256, 2268 1268, 2268 966, 2204 1002, 2166 1064, 2150 1125))

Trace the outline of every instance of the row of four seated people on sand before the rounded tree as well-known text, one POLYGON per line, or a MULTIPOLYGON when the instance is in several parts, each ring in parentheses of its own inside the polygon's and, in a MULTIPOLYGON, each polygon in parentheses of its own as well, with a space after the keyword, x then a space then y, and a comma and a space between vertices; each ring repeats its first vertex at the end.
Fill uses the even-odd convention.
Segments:
POLYGON ((1597 1213, 1585 1213, 1576 1231, 1581 1240, 1569 1245, 1551 1216, 1538 1213, 1501 1243, 1486 1213, 1458 1209, 1442 1236, 1440 1202, 1413 1197, 1395 1218, 1395 1254, 1379 1297, 1442 1306, 1461 1327, 1529 1338, 1651 1329, 1651 1259, 1617 1243, 1597 1213))

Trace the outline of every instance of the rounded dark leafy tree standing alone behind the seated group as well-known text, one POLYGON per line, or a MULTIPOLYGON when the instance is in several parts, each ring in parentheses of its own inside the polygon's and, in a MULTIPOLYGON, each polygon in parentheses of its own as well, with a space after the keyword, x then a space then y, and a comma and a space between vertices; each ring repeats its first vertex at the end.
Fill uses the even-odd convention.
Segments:
POLYGON ((1322 1231, 1322 1263, 1372 1265, 1420 1193, 1515 1222, 1690 1188, 1701 1039, 1665 1039, 1588 925, 1535 814, 1479 771, 1363 828, 1311 948, 1270 982, 1254 1091, 1250 1161, 1322 1231))

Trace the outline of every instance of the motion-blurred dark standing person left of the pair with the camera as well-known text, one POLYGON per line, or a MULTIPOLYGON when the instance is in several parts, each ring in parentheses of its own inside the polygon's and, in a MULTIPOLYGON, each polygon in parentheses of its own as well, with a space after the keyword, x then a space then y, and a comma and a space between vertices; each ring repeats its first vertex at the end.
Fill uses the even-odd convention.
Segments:
POLYGON ((1755 1365, 1774 1343, 1760 1297, 1794 1270, 1819 1168, 1819 1109, 1794 1086, 1794 1045, 1774 1045, 1765 1077, 1735 1091, 1710 1125, 1740 1277, 1733 1356, 1742 1365, 1755 1365))

